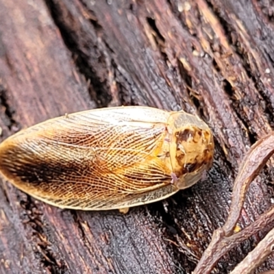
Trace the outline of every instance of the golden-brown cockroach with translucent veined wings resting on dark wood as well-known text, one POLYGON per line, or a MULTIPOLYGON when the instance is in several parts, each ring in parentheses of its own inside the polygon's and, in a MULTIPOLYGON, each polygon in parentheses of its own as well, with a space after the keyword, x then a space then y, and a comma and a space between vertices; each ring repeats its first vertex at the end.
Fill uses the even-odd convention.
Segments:
POLYGON ((77 112, 0 145, 0 171, 46 203, 110 210, 159 201, 195 184, 212 164, 206 123, 147 107, 77 112))

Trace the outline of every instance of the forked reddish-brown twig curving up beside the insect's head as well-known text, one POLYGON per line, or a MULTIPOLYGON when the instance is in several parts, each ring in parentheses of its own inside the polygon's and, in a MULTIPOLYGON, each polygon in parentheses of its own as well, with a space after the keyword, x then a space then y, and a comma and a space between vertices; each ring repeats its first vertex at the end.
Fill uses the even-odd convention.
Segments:
POLYGON ((257 221, 241 232, 234 233, 234 228, 240 217, 249 185, 258 173, 260 173, 262 167, 266 164, 266 161, 269 160, 273 152, 274 133, 271 133, 258 140, 242 160, 232 192, 232 205, 227 221, 223 227, 214 231, 210 245, 203 253, 193 274, 210 273, 225 253, 243 240, 249 238, 249 236, 258 233, 262 227, 273 221, 274 208, 262 214, 257 221))

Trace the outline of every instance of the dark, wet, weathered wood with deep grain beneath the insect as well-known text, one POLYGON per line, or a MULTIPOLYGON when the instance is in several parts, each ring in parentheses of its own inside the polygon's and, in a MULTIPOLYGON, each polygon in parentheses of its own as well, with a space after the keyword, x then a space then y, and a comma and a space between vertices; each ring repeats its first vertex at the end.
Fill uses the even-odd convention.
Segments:
MULTIPOLYGON (((64 113, 151 105, 198 114, 216 142, 204 182, 126 215, 60 210, 1 182, 0 273, 191 273, 225 221, 240 160, 273 129, 273 11, 260 4, 0 0, 2 138, 64 113)), ((240 226, 271 206, 270 171, 251 184, 240 226)))

